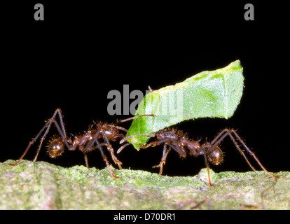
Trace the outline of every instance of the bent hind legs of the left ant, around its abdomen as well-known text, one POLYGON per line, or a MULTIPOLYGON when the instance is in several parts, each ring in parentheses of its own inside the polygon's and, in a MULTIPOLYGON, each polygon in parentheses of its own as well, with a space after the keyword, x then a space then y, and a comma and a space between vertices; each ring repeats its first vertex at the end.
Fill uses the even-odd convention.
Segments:
POLYGON ((35 143, 35 141, 36 141, 37 139, 39 139, 39 137, 41 136, 41 133, 42 133, 44 130, 46 130, 46 132, 45 132, 45 133, 43 134, 43 136, 41 137, 41 142, 40 142, 40 144, 39 144, 39 148, 37 149, 36 156, 35 156, 35 158, 34 158, 34 160, 33 160, 33 162, 35 162, 36 159, 37 159, 37 157, 38 157, 38 155, 39 155, 39 151, 40 151, 40 149, 41 149, 41 146, 42 146, 42 144, 43 144, 43 141, 44 141, 44 139, 46 138, 46 135, 48 134, 48 131, 50 130, 51 123, 55 123, 55 126, 57 127, 57 131, 60 132, 60 135, 61 135, 62 139, 64 139, 64 143, 65 143, 66 146, 69 148, 69 145, 68 145, 68 143, 67 143, 67 134, 65 133, 65 130, 64 130, 64 123, 63 123, 63 121, 62 121, 61 110, 60 110, 60 109, 56 109, 56 110, 55 110, 55 113, 53 113, 53 117, 50 118, 49 120, 47 120, 47 121, 46 121, 46 124, 43 125, 43 127, 41 128, 41 130, 39 131, 39 133, 36 135, 36 137, 34 137, 34 138, 32 139, 32 141, 29 141, 29 144, 28 144, 27 148, 25 149, 25 152, 24 152, 24 153, 22 154, 22 156, 20 157, 20 159, 19 159, 17 162, 15 162, 15 163, 13 163, 13 164, 9 164, 9 165, 11 165, 11 166, 18 165, 18 163, 19 163, 19 162, 20 162, 20 161, 25 157, 25 155, 26 155, 27 151, 29 150, 29 148, 30 148, 30 147, 35 143), (56 120, 55 120, 55 116, 57 116, 57 114, 58 114, 58 116, 59 116, 59 118, 60 118, 61 127, 60 127, 60 125, 57 124, 57 122, 56 122, 56 120))

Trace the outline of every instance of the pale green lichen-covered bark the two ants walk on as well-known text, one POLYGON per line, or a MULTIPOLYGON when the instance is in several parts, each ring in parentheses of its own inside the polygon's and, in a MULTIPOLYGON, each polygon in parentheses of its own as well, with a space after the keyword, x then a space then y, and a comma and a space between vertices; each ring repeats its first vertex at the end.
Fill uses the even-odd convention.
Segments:
POLYGON ((0 209, 290 209, 290 172, 160 176, 132 169, 0 163, 0 209))

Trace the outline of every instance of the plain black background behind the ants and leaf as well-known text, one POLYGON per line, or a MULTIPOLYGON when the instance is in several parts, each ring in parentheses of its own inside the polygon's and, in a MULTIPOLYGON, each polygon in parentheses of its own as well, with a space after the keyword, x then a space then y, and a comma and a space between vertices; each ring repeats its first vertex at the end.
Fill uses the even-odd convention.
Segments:
MULTIPOLYGON (((271 172, 289 170, 289 32, 279 2, 254 5, 254 21, 244 20, 239 3, 93 4, 87 1, 31 1, 1 6, 1 154, 18 159, 44 121, 60 107, 68 134, 83 133, 92 120, 109 116, 110 90, 145 93, 179 83, 192 74, 219 69, 240 59, 244 94, 232 118, 202 118, 177 125, 193 139, 213 139, 224 127, 238 129, 271 172), (34 20, 34 4, 43 3, 44 21, 34 20)), ((130 102, 133 102, 131 100, 130 102)), ((129 127, 130 123, 124 124, 129 127)), ((52 128, 48 139, 56 134, 52 128)), ((36 143, 25 159, 33 160, 36 143)), ((46 143, 45 143, 46 144, 46 143)), ((118 148, 118 143, 113 143, 118 148)), ((225 162, 216 172, 250 168, 229 139, 221 144, 225 162)), ((163 146, 137 152, 127 147, 118 158, 123 167, 152 169, 163 146)), ((109 153, 107 154, 109 157, 109 153)), ((55 160, 43 147, 38 160, 72 167, 84 165, 81 152, 66 151, 55 160)), ((105 167, 98 151, 91 167, 105 167)), ((116 167, 116 166, 115 166, 116 167)), ((195 175, 203 158, 179 159, 172 152, 163 174, 195 175)), ((255 165, 258 168, 257 165, 255 165)))

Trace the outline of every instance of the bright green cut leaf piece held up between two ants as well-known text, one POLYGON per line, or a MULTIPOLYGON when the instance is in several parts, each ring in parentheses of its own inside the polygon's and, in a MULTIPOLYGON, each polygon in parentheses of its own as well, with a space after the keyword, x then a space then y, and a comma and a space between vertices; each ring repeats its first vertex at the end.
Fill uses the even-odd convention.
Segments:
MULTIPOLYGON (((242 97, 244 76, 240 60, 215 71, 202 71, 182 83, 163 87, 146 94, 135 116, 155 114, 134 119, 127 136, 151 134, 195 118, 230 118, 242 97)), ((132 137, 130 143, 139 150, 150 137, 132 137)))

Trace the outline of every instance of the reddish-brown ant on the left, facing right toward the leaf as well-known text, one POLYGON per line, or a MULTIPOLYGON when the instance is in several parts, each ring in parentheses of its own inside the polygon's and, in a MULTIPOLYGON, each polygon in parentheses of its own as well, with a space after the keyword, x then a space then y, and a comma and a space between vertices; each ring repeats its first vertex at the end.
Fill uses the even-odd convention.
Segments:
MULTIPOLYGON (((153 115, 142 115, 142 116, 153 116, 153 115)), ((141 116, 127 118, 125 120, 122 120, 121 122, 132 120, 139 117, 141 116)), ((55 124, 55 127, 57 128, 57 132, 59 132, 60 136, 54 137, 52 140, 50 140, 47 146, 47 152, 50 158, 57 158, 58 156, 62 155, 62 153, 64 152, 64 146, 66 146, 70 151, 75 151, 76 148, 78 148, 78 150, 80 150, 85 156, 85 165, 89 167, 87 153, 98 148, 102 155, 102 158, 104 159, 104 162, 106 162, 106 167, 108 167, 111 176, 113 176, 114 178, 118 178, 118 176, 113 174, 109 161, 107 160, 106 155, 104 154, 104 151, 102 150, 102 146, 106 146, 106 148, 111 153, 111 158, 113 159, 113 162, 115 162, 115 164, 118 165, 120 169, 122 169, 121 167, 122 162, 120 162, 120 160, 116 158, 116 155, 114 154, 113 147, 111 146, 110 141, 116 141, 116 139, 118 138, 124 138, 124 135, 120 133, 119 130, 123 130, 124 132, 127 132, 127 130, 115 124, 109 125, 107 123, 101 123, 101 122, 93 123, 92 125, 90 125, 87 132, 85 132, 84 134, 74 136, 74 140, 72 140, 71 138, 67 137, 67 134, 65 132, 64 122, 62 120, 62 112, 60 109, 55 110, 55 113, 53 113, 53 116, 50 119, 48 119, 46 121, 46 124, 41 128, 41 130, 39 131, 39 134, 36 134, 36 137, 34 137, 32 141, 29 142, 25 152, 22 154, 20 159, 17 162, 13 164, 9 164, 9 165, 11 166, 18 165, 18 163, 25 157, 29 148, 36 142, 37 139, 39 139, 39 137, 41 137, 41 134, 45 131, 43 136, 41 137, 39 148, 37 149, 36 156, 33 160, 33 162, 35 162, 39 155, 39 151, 41 150, 43 141, 44 139, 46 139, 46 136, 53 123, 55 124), (59 118, 59 122, 57 122, 56 120, 57 116, 59 118), (100 139, 103 139, 104 142, 101 143, 99 141, 100 139)), ((127 145, 128 144, 125 144, 123 148, 125 148, 125 146, 127 145)))

